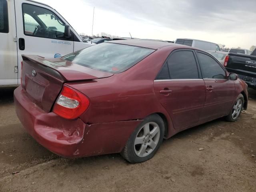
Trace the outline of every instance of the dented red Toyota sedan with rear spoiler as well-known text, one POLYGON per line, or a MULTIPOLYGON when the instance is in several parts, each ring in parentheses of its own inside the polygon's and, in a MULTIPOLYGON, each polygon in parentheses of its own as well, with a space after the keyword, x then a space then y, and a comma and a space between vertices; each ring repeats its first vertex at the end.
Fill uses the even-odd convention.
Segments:
POLYGON ((65 157, 156 154, 163 138, 247 108, 244 81, 210 54, 149 40, 98 44, 62 58, 23 56, 16 113, 44 147, 65 157))

